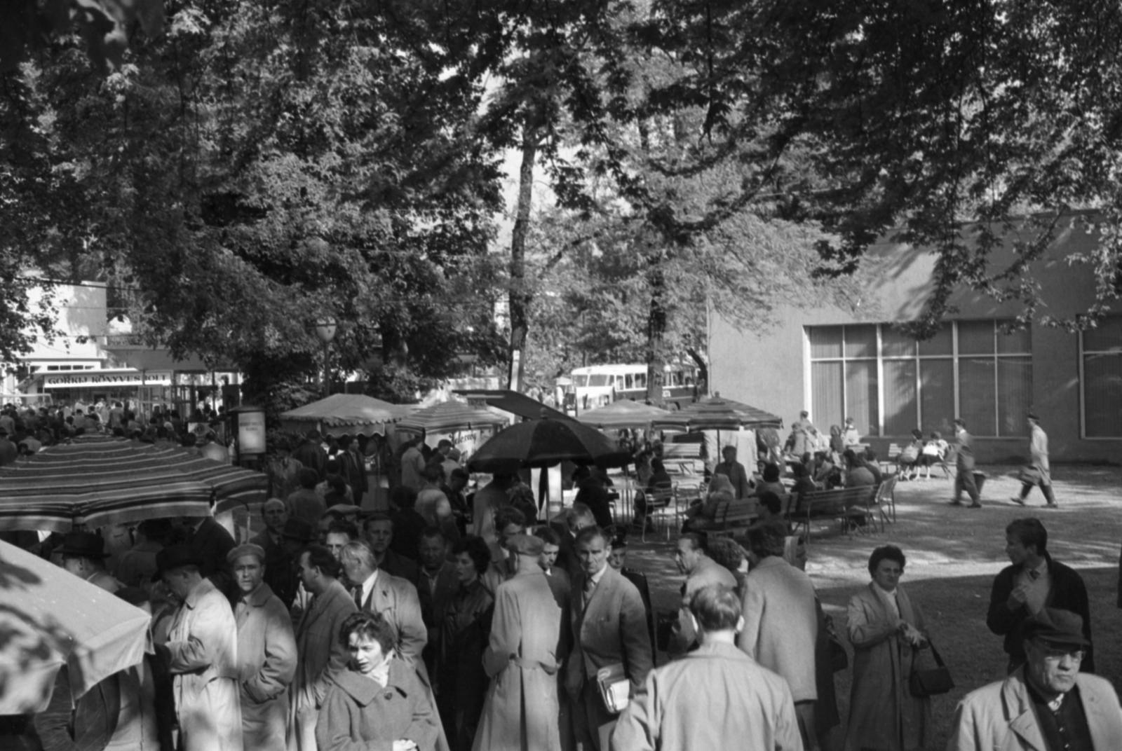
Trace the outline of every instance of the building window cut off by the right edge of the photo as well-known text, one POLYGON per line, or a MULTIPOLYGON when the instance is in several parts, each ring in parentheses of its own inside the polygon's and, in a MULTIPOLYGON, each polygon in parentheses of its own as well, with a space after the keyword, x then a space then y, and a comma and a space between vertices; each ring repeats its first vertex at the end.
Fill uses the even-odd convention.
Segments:
POLYGON ((1083 433, 1122 437, 1122 316, 1083 332, 1083 433))

